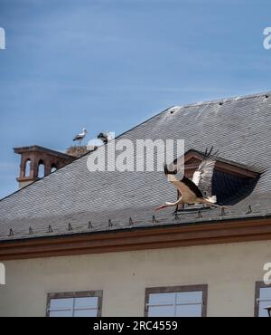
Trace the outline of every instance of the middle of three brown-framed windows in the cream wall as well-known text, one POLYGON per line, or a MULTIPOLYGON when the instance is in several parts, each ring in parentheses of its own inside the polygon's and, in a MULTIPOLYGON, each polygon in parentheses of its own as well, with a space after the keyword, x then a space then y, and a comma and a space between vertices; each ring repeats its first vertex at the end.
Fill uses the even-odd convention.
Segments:
POLYGON ((207 285, 148 288, 145 317, 205 317, 207 290, 207 285))

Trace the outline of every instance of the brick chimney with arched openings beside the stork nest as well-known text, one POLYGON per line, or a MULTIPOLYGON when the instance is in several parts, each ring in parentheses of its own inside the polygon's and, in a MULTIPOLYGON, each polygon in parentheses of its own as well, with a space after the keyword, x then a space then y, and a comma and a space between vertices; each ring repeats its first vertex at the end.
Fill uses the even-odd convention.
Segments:
POLYGON ((20 188, 49 175, 75 159, 68 154, 39 146, 14 148, 14 152, 21 155, 20 176, 17 177, 20 188))

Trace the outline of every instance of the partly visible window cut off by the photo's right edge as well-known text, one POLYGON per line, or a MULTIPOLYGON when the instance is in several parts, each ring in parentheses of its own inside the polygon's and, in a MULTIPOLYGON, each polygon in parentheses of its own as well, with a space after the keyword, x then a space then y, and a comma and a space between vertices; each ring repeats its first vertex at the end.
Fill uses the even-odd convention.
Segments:
POLYGON ((256 282, 255 313, 256 317, 268 317, 266 307, 271 306, 271 285, 265 282, 256 282))

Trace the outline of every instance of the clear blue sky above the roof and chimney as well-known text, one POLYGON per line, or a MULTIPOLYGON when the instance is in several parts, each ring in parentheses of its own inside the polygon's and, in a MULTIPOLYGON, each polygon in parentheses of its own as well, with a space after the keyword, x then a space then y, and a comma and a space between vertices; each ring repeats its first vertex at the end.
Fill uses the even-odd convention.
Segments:
POLYGON ((271 2, 0 0, 0 198, 27 145, 121 133, 173 105, 271 91, 271 2))

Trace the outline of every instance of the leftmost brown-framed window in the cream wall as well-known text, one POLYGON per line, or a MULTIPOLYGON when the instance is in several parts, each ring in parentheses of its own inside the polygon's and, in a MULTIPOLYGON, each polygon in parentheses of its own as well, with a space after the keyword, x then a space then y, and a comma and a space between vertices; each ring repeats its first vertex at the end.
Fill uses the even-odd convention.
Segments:
POLYGON ((49 293, 48 317, 100 317, 102 291, 49 293))

